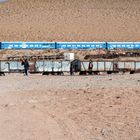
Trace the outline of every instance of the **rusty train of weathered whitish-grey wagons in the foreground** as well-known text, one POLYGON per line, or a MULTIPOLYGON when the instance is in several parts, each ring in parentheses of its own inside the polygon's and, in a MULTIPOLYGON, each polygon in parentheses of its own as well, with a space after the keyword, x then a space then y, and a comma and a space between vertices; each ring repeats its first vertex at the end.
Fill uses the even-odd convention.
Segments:
MULTIPOLYGON (((70 73, 71 67, 73 72, 79 73, 79 75, 96 75, 100 73, 125 73, 130 74, 140 72, 140 61, 80 61, 80 60, 38 60, 29 61, 29 72, 42 73, 42 75, 64 75, 70 73), (93 67, 89 70, 89 64, 92 63, 93 67)), ((0 75, 5 73, 23 73, 24 67, 21 65, 21 61, 7 61, 0 60, 0 75)))

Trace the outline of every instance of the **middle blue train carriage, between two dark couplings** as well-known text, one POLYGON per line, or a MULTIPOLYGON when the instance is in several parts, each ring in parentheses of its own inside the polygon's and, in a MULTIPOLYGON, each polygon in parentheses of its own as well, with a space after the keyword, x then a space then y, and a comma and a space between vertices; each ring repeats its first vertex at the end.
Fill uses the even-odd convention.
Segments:
POLYGON ((56 49, 106 49, 106 42, 57 42, 56 49))

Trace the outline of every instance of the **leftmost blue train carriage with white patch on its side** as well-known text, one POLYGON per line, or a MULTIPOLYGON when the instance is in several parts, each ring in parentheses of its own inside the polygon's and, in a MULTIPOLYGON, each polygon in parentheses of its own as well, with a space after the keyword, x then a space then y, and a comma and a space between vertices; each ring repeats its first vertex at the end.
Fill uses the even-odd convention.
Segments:
POLYGON ((1 42, 1 49, 55 49, 55 42, 1 42))

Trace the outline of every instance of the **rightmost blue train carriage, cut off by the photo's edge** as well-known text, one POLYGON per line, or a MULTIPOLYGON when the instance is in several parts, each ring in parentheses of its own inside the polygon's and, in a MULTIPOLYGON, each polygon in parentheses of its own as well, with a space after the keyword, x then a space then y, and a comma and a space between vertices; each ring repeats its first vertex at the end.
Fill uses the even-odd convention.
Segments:
POLYGON ((136 49, 136 44, 135 42, 107 42, 107 48, 110 50, 112 49, 133 50, 133 49, 136 49))

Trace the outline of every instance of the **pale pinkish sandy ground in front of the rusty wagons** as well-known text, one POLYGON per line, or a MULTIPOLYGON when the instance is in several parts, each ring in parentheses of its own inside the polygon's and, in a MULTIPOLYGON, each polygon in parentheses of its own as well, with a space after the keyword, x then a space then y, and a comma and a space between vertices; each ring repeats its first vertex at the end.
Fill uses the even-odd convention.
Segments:
POLYGON ((140 74, 0 77, 1 140, 140 140, 140 74))

